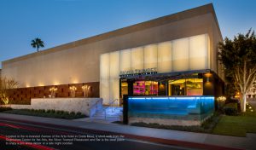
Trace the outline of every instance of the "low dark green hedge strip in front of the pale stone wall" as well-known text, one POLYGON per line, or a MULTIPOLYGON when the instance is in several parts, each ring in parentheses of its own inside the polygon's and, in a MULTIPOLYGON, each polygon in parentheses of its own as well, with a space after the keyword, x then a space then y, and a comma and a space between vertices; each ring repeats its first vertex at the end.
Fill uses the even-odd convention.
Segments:
MULTIPOLYGON (((7 109, 7 108, 4 108, 7 109)), ((88 116, 82 113, 68 113, 64 111, 55 111, 55 110, 34 110, 34 109, 8 109, 3 110, 1 113, 12 113, 20 115, 29 115, 29 116, 38 116, 46 118, 66 118, 66 119, 76 119, 76 118, 87 118, 88 116)))

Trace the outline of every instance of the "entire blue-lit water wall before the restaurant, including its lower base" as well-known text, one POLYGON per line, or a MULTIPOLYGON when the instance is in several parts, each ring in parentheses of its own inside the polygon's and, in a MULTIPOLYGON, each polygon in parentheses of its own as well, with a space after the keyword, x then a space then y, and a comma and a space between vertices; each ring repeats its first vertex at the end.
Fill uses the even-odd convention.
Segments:
POLYGON ((201 125, 214 112, 214 97, 134 96, 127 105, 129 124, 201 125))

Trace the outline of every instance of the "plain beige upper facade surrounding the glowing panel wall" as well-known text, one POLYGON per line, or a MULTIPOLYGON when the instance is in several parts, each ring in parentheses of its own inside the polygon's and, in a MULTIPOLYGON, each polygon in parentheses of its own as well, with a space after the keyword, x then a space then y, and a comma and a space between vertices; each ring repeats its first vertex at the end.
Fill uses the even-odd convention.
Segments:
POLYGON ((222 36, 212 4, 3 61, 2 74, 21 88, 99 82, 101 54, 205 33, 210 69, 223 78, 217 61, 222 36))

